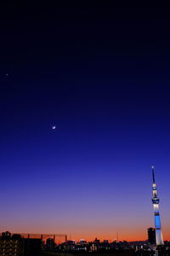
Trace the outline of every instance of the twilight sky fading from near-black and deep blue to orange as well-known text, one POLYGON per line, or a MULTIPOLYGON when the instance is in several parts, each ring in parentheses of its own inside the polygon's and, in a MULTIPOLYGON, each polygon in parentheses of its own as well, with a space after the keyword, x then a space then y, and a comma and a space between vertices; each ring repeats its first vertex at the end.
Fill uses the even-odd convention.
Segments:
POLYGON ((168 9, 0 9, 0 231, 170 240, 168 9), (56 129, 52 129, 56 125, 56 129))

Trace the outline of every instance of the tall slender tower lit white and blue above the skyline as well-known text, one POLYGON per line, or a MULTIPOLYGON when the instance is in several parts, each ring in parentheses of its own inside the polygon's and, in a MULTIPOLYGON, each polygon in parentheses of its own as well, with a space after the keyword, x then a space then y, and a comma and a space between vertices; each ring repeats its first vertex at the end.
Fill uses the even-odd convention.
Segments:
POLYGON ((154 173, 154 166, 151 166, 152 169, 152 177, 153 177, 153 184, 152 184, 152 192, 153 198, 152 203, 154 206, 154 218, 155 218, 155 229, 156 229, 156 246, 163 245, 163 236, 161 232, 161 219, 159 213, 159 198, 157 198, 157 188, 156 188, 156 181, 155 181, 155 173, 154 173))

